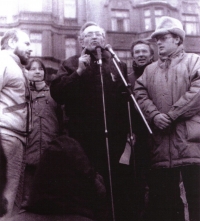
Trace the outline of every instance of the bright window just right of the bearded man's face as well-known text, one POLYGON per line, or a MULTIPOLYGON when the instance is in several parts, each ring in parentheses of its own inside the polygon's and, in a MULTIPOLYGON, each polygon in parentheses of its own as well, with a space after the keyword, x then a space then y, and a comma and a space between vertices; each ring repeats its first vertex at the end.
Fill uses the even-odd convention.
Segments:
POLYGON ((32 47, 32 56, 42 56, 42 34, 41 33, 31 33, 30 41, 32 47))

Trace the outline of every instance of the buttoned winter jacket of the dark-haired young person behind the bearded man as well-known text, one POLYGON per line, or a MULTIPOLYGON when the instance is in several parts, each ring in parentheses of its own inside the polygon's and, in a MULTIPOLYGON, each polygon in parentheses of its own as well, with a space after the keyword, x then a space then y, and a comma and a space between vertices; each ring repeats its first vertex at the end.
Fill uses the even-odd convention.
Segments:
POLYGON ((48 143, 61 132, 62 109, 50 96, 46 85, 37 91, 30 86, 32 94, 33 129, 28 137, 26 163, 36 165, 48 147, 48 143))

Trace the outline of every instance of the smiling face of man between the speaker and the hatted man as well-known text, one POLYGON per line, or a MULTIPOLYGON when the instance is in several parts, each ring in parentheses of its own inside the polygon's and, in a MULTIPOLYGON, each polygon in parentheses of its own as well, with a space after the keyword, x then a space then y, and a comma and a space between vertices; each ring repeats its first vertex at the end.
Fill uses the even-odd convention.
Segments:
POLYGON ((149 45, 141 43, 134 46, 133 59, 138 66, 142 67, 149 64, 152 58, 149 45))

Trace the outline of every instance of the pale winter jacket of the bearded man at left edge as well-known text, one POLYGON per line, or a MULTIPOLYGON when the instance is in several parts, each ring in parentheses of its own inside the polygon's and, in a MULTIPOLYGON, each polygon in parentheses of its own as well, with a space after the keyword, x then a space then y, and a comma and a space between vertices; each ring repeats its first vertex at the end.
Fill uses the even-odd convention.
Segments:
POLYGON ((30 91, 18 56, 0 52, 0 130, 25 142, 31 130, 30 91))

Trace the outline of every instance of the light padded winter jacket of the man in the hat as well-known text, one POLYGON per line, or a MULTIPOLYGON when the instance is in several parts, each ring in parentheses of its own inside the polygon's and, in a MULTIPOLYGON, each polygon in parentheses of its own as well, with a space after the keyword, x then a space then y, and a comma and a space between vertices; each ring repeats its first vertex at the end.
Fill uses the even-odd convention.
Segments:
POLYGON ((136 81, 136 99, 153 129, 153 167, 200 164, 200 57, 179 46, 169 58, 147 66, 136 81), (165 113, 165 130, 153 118, 165 113))

